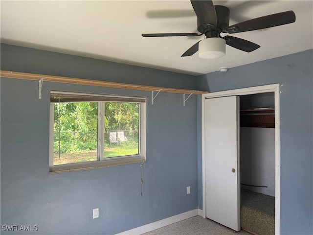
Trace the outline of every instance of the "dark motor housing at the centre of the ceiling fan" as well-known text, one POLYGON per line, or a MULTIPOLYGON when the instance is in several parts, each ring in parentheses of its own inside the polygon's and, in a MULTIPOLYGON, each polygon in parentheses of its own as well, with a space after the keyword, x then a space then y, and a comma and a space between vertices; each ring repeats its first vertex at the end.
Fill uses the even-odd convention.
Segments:
POLYGON ((201 21, 199 20, 199 18, 197 18, 198 31, 200 33, 204 33, 207 38, 219 37, 222 29, 229 26, 229 9, 225 6, 220 5, 216 5, 214 7, 217 18, 216 32, 211 30, 213 25, 210 24, 210 22, 207 22, 206 24, 201 24, 201 21))

